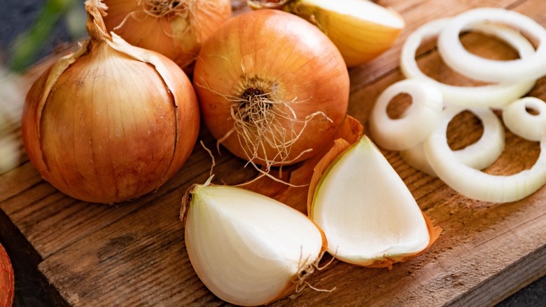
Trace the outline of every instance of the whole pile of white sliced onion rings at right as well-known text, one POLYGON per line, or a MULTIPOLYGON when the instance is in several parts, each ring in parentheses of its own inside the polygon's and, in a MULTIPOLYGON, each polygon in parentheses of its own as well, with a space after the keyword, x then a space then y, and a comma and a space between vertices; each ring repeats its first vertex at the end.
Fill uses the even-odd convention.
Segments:
POLYGON ((439 177, 458 193, 475 200, 517 201, 546 184, 546 103, 524 97, 537 79, 546 75, 546 29, 542 25, 503 8, 475 8, 453 18, 433 20, 408 36, 402 47, 400 69, 408 80, 389 86, 370 116, 370 134, 379 146, 400 151, 402 159, 412 167, 439 177), (535 50, 526 37, 507 26, 537 39, 538 48, 535 50), (489 60, 473 55, 459 40, 461 32, 480 32, 500 39, 517 50, 519 59, 489 60), (423 74, 416 63, 416 50, 423 39, 432 36, 437 36, 438 52, 448 67, 469 79, 493 84, 451 86, 423 74), (435 106, 425 95, 412 95, 430 86, 442 93, 441 100, 434 100, 435 106), (402 118, 388 118, 386 107, 397 93, 412 96, 412 106, 402 118), (443 111, 440 115, 430 113, 426 122, 414 116, 414 104, 419 109, 427 106, 443 111), (514 135, 540 142, 540 156, 531 169, 509 176, 480 171, 497 161, 505 147, 504 126, 493 109, 502 111, 503 123, 514 135), (482 122, 484 132, 474 144, 453 151, 447 143, 447 125, 463 111, 472 112, 482 122), (434 131, 426 133, 432 123, 434 131))

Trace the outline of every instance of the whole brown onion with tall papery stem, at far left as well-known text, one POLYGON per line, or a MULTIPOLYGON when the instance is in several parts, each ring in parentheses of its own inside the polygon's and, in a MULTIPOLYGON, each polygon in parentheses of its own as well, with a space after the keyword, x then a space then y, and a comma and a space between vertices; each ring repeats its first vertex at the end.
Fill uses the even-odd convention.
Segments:
POLYGON ((31 86, 22 138, 57 189, 116 203, 158 189, 181 168, 197 139, 199 106, 172 60, 107 34, 101 1, 85 8, 90 40, 31 86))

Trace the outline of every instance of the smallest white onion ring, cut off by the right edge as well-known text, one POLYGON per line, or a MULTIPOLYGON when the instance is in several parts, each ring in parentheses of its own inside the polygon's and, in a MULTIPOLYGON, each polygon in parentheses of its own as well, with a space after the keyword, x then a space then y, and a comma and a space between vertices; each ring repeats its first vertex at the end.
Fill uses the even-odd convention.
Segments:
POLYGON ((514 135, 540 142, 546 135, 546 102, 536 97, 516 100, 503 109, 503 121, 514 135), (530 114, 527 109, 537 114, 530 114))

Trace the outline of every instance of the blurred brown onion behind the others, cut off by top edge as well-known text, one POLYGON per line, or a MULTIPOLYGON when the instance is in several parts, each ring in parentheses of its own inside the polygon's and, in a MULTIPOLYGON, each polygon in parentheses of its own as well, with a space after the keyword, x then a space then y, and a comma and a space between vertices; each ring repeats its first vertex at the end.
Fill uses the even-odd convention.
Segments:
POLYGON ((190 72, 202 43, 231 17, 230 0, 104 0, 106 29, 190 72))

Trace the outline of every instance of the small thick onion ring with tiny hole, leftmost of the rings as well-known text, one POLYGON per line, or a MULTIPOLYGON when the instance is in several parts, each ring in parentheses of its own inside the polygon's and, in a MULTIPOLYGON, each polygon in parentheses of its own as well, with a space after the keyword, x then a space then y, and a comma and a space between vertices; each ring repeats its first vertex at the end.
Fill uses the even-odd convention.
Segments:
POLYGON ((416 79, 393 83, 379 95, 370 115, 370 133, 384 149, 402 150, 423 142, 432 133, 442 114, 442 93, 416 79), (412 97, 401 118, 390 118, 387 106, 399 94, 412 97))

